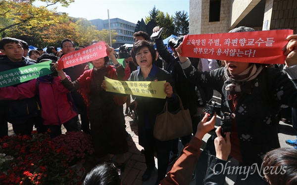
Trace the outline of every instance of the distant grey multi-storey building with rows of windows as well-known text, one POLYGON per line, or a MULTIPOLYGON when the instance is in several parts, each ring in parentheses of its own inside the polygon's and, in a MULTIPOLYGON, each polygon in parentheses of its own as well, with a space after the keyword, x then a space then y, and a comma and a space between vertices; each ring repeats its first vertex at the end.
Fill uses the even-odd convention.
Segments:
MULTIPOLYGON (((136 24, 119 18, 113 18, 109 20, 110 29, 115 30, 116 33, 118 33, 115 37, 116 42, 112 44, 113 48, 118 48, 119 46, 122 46, 124 44, 134 43, 133 34, 136 24)), ((90 21, 91 24, 96 26, 99 31, 102 29, 109 30, 108 19, 93 19, 90 21)))

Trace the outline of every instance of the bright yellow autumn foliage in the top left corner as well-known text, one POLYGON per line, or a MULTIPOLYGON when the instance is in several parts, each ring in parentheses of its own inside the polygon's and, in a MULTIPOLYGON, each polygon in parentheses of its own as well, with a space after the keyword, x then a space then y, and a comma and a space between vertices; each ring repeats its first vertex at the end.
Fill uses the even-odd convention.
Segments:
POLYGON ((0 1, 0 34, 15 26, 34 27, 50 25, 57 21, 56 8, 47 9, 48 6, 59 2, 62 6, 68 6, 74 0, 40 0, 46 2, 46 6, 33 5, 36 0, 1 0, 0 1))

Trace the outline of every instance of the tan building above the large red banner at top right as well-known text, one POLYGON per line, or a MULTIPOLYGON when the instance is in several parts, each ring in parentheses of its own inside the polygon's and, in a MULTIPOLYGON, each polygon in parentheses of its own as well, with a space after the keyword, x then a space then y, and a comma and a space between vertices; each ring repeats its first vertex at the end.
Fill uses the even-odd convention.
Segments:
POLYGON ((239 26, 296 34, 297 0, 190 0, 189 24, 189 34, 226 33, 239 26))

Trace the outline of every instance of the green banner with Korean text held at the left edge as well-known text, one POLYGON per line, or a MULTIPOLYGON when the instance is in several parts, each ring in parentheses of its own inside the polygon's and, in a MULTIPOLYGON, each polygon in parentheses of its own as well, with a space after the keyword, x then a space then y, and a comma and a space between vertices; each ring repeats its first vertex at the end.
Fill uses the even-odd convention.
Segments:
POLYGON ((0 72, 0 88, 12 86, 22 82, 26 82, 38 77, 49 75, 49 64, 51 61, 41 62, 34 65, 28 65, 0 72))

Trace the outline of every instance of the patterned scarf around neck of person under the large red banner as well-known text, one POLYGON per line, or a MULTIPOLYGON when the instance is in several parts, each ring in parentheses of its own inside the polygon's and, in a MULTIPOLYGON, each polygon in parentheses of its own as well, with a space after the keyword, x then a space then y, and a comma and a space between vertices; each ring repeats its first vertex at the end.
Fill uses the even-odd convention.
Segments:
POLYGON ((262 71, 263 66, 256 64, 252 64, 249 66, 245 71, 241 72, 238 75, 231 75, 228 71, 228 68, 225 67, 225 77, 227 81, 230 81, 231 84, 227 85, 225 90, 232 92, 245 92, 251 93, 250 82, 251 80, 255 79, 258 74, 262 71))

